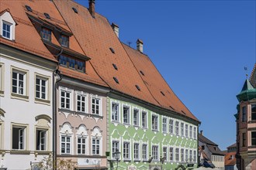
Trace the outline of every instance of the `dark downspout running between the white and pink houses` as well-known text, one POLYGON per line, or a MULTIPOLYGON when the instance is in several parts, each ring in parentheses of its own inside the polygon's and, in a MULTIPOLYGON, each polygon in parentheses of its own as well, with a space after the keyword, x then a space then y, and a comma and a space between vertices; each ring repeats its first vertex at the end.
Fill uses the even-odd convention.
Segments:
MULTIPOLYGON (((63 48, 61 48, 61 52, 57 54, 57 57, 61 55, 63 52, 63 48)), ((57 64, 57 69, 53 72, 53 152, 54 152, 54 167, 53 169, 56 169, 57 166, 57 83, 61 81, 61 72, 59 70, 59 64, 57 64), (58 76, 59 78, 56 80, 55 76, 58 76), (55 82, 56 80, 56 82, 55 82)))

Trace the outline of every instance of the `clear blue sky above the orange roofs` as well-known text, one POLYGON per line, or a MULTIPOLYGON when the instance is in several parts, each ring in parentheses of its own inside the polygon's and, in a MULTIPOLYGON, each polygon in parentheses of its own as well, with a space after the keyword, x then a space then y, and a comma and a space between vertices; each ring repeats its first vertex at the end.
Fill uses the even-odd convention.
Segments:
MULTIPOLYGON (((88 0, 76 0, 88 7, 88 0)), ((119 26, 119 39, 144 42, 199 131, 226 148, 236 141, 234 114, 256 61, 255 0, 96 0, 95 11, 119 26), (244 70, 247 67, 247 71, 244 70)))

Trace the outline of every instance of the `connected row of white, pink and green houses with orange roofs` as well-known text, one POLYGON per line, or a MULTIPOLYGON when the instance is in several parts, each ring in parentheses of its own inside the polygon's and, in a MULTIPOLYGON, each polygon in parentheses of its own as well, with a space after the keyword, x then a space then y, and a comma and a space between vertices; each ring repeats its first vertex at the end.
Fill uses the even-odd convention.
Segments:
POLYGON ((95 1, 88 6, 0 1, 0 168, 43 158, 78 169, 196 167, 199 120, 142 40, 126 46, 95 1))

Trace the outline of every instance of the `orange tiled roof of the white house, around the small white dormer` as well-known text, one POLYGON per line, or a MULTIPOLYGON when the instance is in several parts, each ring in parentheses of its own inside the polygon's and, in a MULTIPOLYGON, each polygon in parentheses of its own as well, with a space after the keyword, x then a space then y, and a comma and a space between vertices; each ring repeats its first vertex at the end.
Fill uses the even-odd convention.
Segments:
POLYGON ((27 53, 35 54, 36 56, 41 56, 44 59, 49 59, 51 61, 57 62, 54 56, 49 53, 46 46, 43 45, 40 35, 34 29, 33 24, 29 21, 26 16, 25 5, 31 3, 29 1, 1 1, 0 2, 0 12, 3 14, 8 11, 12 15, 12 18, 16 22, 16 38, 15 41, 10 41, 0 37, 0 42, 12 46, 16 49, 20 49, 27 53), (29 35, 29 36, 28 36, 29 35))

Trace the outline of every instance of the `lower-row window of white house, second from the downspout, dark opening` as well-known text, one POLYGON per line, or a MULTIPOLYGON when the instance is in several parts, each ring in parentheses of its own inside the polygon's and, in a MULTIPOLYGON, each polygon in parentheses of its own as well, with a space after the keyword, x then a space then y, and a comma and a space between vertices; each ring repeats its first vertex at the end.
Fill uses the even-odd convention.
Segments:
POLYGON ((25 128, 12 127, 12 149, 25 149, 25 128))

